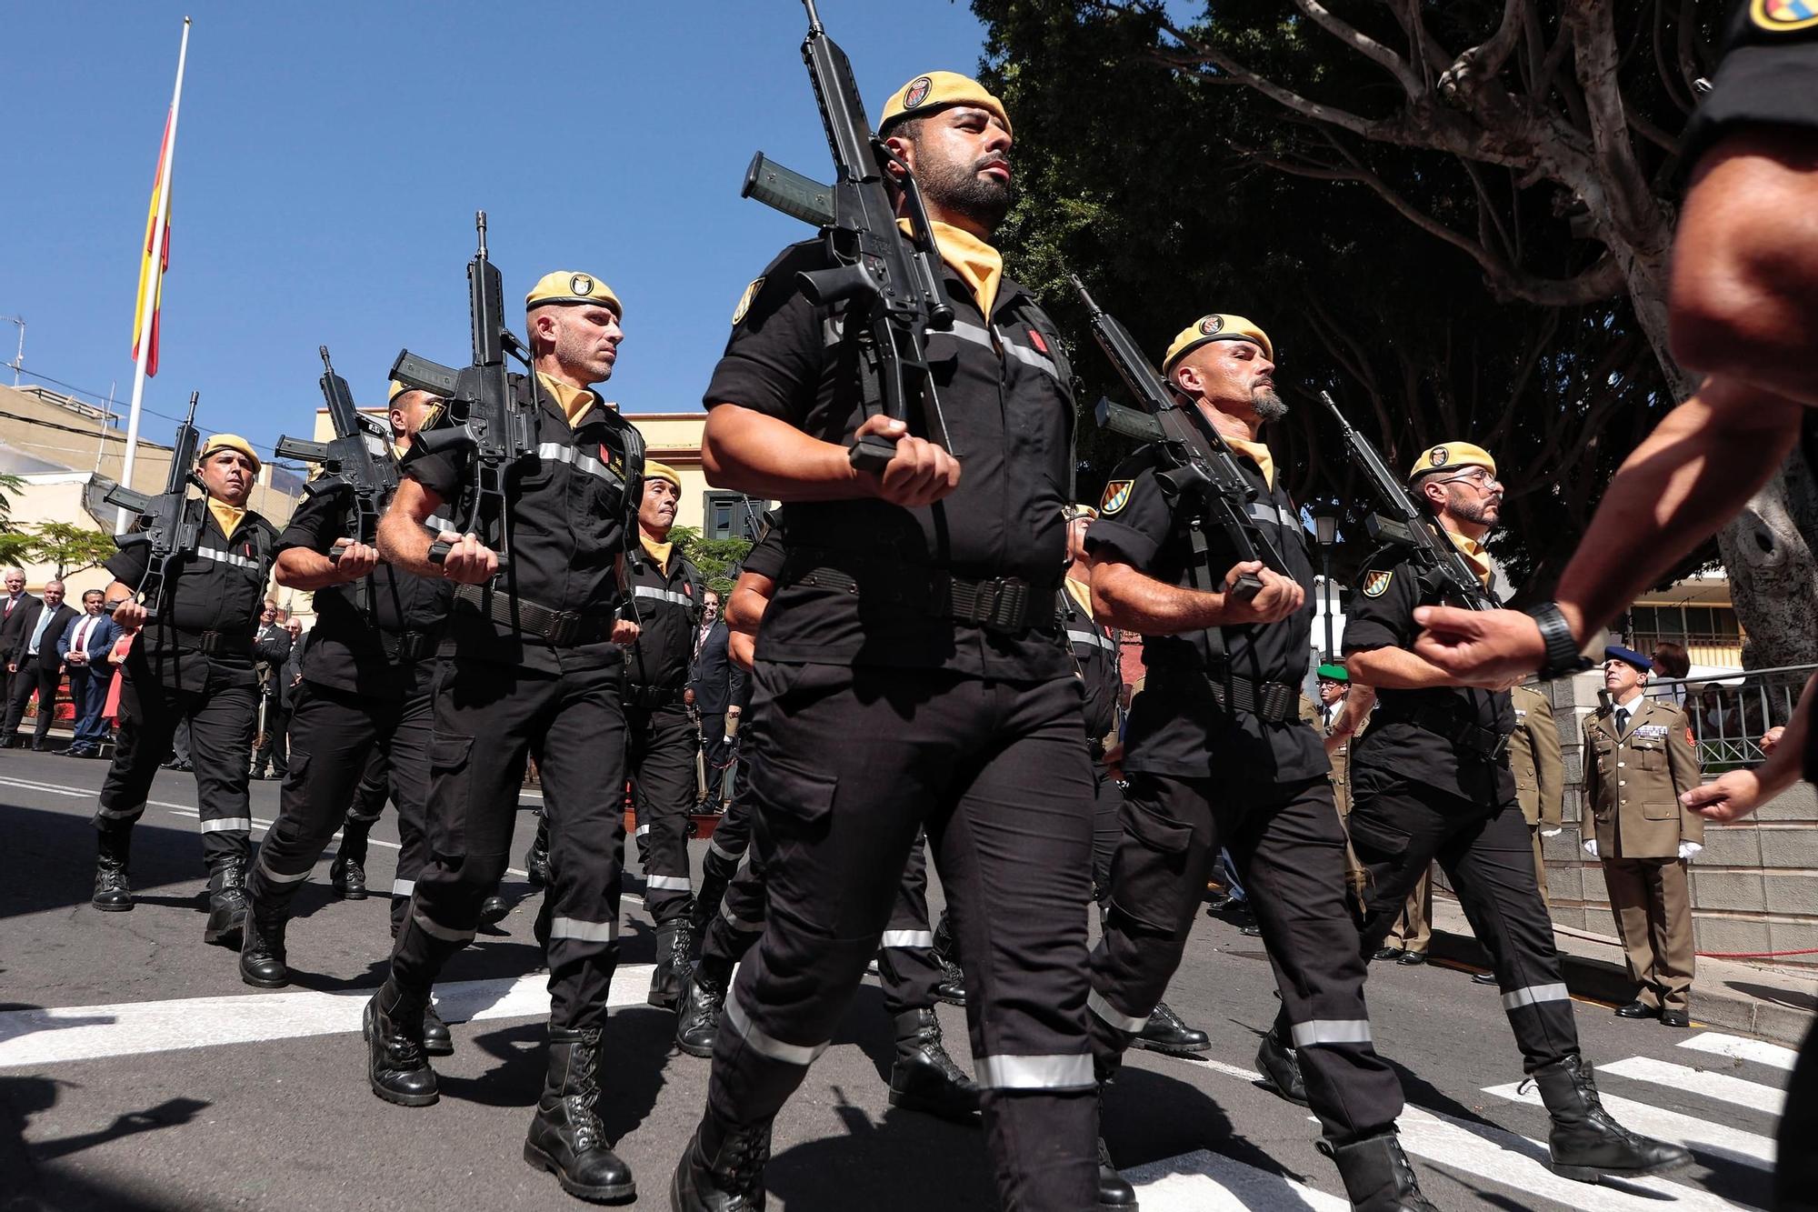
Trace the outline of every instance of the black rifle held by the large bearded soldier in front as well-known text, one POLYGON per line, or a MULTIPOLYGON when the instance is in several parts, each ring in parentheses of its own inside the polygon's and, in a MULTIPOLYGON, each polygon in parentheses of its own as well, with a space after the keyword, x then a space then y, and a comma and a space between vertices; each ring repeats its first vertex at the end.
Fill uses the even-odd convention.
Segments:
MULTIPOLYGON (((905 424, 909 413, 920 409, 929 440, 958 459, 927 364, 927 331, 953 328, 953 304, 936 269, 940 249, 922 189, 909 166, 871 129, 853 64, 822 29, 814 0, 802 4, 807 7, 802 58, 827 127, 834 184, 822 186, 793 173, 760 151, 745 171, 740 197, 825 231, 834 266, 802 273, 798 280, 809 302, 844 302, 845 322, 864 326, 865 375, 867 380, 876 377, 874 391, 867 382, 865 408, 882 408, 885 417, 905 424), (904 249, 896 229, 896 207, 885 184, 891 167, 898 169, 896 184, 909 211, 913 251, 904 249)), ((893 440, 867 435, 853 442, 851 460, 860 471, 882 471, 894 451, 893 440)))

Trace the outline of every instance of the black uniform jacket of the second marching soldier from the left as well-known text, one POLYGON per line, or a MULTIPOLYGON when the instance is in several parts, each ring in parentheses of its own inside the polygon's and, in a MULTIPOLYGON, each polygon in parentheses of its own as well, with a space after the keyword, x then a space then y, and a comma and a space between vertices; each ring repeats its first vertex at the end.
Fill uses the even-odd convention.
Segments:
MULTIPOLYGON (((278 535, 278 551, 304 548, 327 555, 347 537, 351 497, 353 488, 345 486, 305 497, 278 535)), ((413 681, 409 651, 427 644, 447 619, 454 582, 380 564, 365 579, 364 610, 355 588, 316 590, 316 626, 309 630, 304 679, 358 695, 402 697, 413 681)), ((433 653, 418 659, 424 655, 433 653)))

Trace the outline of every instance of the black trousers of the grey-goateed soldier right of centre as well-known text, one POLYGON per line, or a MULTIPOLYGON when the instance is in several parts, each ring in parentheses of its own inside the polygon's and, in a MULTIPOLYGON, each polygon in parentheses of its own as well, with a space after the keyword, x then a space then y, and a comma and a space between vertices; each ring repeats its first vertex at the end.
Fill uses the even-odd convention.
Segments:
POLYGON ((1102 1074, 1116 1072, 1167 992, 1220 846, 1249 892, 1325 1139, 1344 1145, 1393 1130, 1402 1083, 1371 1043, 1365 963, 1345 904, 1345 835, 1324 775, 1260 786, 1131 775, 1111 914, 1093 950, 1102 1074))

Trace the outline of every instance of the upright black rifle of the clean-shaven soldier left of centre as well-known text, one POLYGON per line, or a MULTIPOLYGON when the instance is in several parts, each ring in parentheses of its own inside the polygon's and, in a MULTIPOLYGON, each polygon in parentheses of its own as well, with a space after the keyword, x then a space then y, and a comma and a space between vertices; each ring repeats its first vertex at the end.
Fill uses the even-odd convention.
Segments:
MULTIPOLYGON (((498 268, 487 260, 485 253, 485 211, 474 215, 474 229, 480 235, 480 247, 467 262, 473 366, 456 371, 402 349, 391 366, 391 377, 407 388, 429 391, 447 400, 453 424, 418 433, 405 459, 445 451, 465 451, 473 457, 474 479, 458 530, 485 537, 498 553, 498 568, 504 571, 511 548, 505 471, 518 459, 536 451, 536 415, 534 409, 518 408, 511 391, 505 355, 509 353, 524 364, 533 393, 536 391, 536 371, 531 366, 531 351, 505 326, 505 291, 498 268), (498 519, 496 542, 478 530, 491 519, 498 519)), ((447 553, 447 542, 436 539, 429 544, 429 562, 440 564, 447 553)))

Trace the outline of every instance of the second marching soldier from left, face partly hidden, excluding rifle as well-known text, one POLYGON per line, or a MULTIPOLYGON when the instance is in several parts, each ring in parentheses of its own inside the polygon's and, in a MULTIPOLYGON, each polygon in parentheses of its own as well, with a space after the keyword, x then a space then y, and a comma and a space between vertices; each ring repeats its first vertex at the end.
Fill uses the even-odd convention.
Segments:
MULTIPOLYGON (((391 433, 400 453, 436 408, 429 393, 391 384, 391 433)), ((376 817, 387 793, 398 804, 395 894, 415 881, 427 857, 431 690, 454 586, 393 568, 347 535, 351 499, 351 486, 307 495, 278 537, 278 584, 315 593, 316 626, 293 690, 291 775, 247 879, 253 912, 240 977, 258 988, 289 983, 284 935, 291 901, 344 817, 347 833, 329 868, 344 897, 365 897, 367 815, 376 817), (373 775, 376 795, 367 788, 373 775)), ((405 904, 395 895, 393 930, 405 904)), ((453 1052, 435 1008, 424 1012, 424 1041, 431 1054, 453 1052)))

